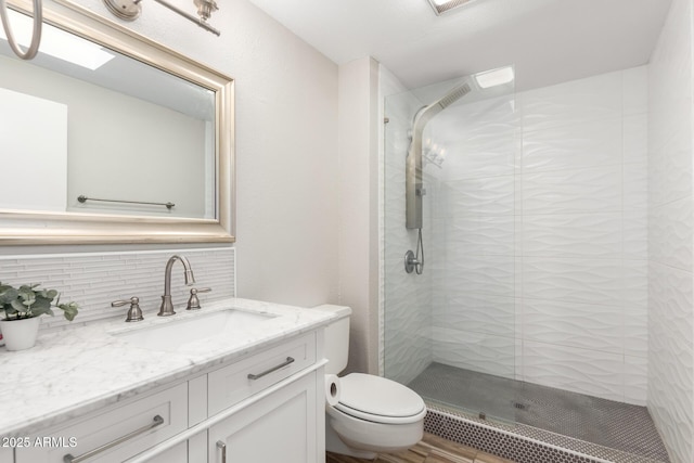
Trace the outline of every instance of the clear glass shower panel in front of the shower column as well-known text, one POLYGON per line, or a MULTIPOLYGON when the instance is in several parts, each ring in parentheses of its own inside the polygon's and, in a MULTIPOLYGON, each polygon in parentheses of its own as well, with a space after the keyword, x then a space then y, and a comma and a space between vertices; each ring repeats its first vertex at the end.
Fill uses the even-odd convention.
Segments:
POLYGON ((384 373, 425 400, 513 420, 515 178, 513 85, 481 89, 464 77, 385 102, 384 373), (415 115, 467 82, 423 136, 424 271, 407 273, 406 158, 415 115))

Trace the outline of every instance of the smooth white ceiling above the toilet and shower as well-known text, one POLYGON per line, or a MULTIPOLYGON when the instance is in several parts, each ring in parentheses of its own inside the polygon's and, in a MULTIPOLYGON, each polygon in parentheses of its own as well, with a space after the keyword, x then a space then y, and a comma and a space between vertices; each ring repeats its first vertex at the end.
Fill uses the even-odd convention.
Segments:
POLYGON ((337 64, 373 56, 408 88, 513 64, 516 90, 647 63, 670 0, 250 0, 337 64))

